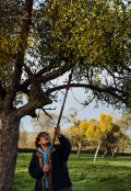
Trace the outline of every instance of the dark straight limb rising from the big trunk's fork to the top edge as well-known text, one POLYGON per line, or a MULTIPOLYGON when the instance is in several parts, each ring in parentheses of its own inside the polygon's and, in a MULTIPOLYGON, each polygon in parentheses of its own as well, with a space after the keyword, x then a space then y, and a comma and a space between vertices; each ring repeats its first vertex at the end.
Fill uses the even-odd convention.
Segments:
POLYGON ((5 97, 5 109, 10 111, 13 108, 13 101, 15 99, 17 88, 21 80, 22 67, 24 63, 25 50, 27 47, 27 36, 29 32, 29 24, 32 18, 33 0, 25 0, 25 10, 23 16, 23 25, 20 34, 20 41, 17 45, 16 63, 14 66, 13 79, 10 86, 10 92, 5 97))

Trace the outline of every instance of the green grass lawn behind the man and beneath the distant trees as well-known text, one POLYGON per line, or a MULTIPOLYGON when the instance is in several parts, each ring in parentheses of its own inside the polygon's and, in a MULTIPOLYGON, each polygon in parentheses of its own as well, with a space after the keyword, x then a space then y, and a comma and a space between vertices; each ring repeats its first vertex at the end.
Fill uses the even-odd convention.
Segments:
MULTIPOLYGON (((78 159, 71 154, 68 167, 73 191, 131 191, 131 157, 111 156, 105 159, 82 154, 78 159)), ((12 191, 33 191, 35 180, 28 175, 32 154, 19 154, 12 191)))

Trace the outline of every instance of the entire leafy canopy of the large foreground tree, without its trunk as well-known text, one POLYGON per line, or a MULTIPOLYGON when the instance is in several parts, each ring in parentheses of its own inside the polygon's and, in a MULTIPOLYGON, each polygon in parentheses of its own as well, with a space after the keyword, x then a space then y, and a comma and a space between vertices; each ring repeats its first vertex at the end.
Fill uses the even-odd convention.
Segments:
MULTIPOLYGON (((117 108, 121 103, 130 106, 129 0, 37 2, 26 32, 23 0, 2 1, 1 9, 0 81, 5 91, 10 91, 14 68, 21 60, 23 70, 16 94, 29 93, 31 74, 38 83, 44 83, 46 91, 52 88, 52 79, 74 68, 73 80, 79 83, 84 80, 88 87, 83 87, 92 90, 85 105, 96 99, 117 108), (59 72, 53 76, 56 70, 59 72), (49 74, 50 78, 43 78, 49 74)), ((50 98, 56 99, 53 94, 50 98)))

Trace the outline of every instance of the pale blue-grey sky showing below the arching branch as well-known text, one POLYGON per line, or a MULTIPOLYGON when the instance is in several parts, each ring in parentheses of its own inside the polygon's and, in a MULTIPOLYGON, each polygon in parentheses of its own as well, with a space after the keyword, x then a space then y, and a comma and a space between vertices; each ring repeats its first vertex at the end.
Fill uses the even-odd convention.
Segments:
MULTIPOLYGON (((121 116, 121 111, 114 110, 112 106, 108 106, 107 104, 102 105, 99 103, 98 108, 95 108, 95 102, 93 102, 88 106, 83 108, 83 105, 80 104, 74 99, 72 91, 73 91, 75 99, 79 100, 80 102, 83 102, 86 99, 86 94, 85 94, 83 88, 70 88, 70 90, 68 92, 66 105, 63 109, 63 115, 68 115, 70 108, 75 108, 78 110, 76 120, 84 120, 84 119, 86 119, 87 121, 91 119, 98 120, 98 116, 100 113, 110 114, 114 120, 117 120, 121 116)), ((63 96, 61 96, 61 93, 59 92, 58 100, 60 100, 62 97, 63 96)), ((48 108, 55 109, 56 108, 56 110, 51 110, 50 112, 53 112, 57 115, 59 115, 61 105, 62 105, 62 101, 63 101, 63 99, 57 103, 46 105, 45 109, 48 109, 48 108)), ((47 110, 47 112, 49 112, 49 111, 47 110)), ((24 130, 26 132, 34 131, 33 124, 31 123, 31 119, 32 119, 31 116, 24 116, 21 121, 24 126, 24 130)), ((62 128, 68 128, 70 125, 71 125, 71 123, 60 124, 60 126, 62 128)))

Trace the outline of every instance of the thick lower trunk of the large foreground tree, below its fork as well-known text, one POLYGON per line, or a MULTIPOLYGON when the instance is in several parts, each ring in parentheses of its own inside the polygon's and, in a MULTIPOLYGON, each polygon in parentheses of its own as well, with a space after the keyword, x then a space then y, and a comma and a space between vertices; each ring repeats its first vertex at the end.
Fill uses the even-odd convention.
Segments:
POLYGON ((20 121, 15 114, 1 117, 0 191, 11 191, 17 157, 20 121))

